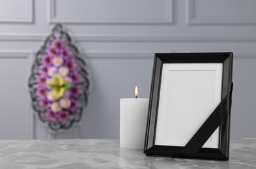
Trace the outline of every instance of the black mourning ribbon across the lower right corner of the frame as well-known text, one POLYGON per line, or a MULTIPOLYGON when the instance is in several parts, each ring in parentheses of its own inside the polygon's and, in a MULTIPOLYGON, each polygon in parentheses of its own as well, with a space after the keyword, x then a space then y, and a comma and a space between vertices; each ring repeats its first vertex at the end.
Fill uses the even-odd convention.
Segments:
POLYGON ((182 149, 181 153, 194 154, 202 148, 205 142, 210 138, 212 133, 220 126, 222 122, 227 118, 231 112, 232 104, 232 92, 233 83, 231 84, 231 90, 221 103, 216 107, 216 109, 210 114, 205 123, 198 129, 198 131, 193 135, 190 141, 182 149))

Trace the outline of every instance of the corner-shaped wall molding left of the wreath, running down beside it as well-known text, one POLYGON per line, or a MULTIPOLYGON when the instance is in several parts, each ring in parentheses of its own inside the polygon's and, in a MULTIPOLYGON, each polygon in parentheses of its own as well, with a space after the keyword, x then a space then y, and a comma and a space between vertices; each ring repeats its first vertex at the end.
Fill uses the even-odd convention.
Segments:
MULTIPOLYGON (((27 60, 27 77, 26 81, 29 79, 29 75, 31 72, 31 65, 33 62, 33 51, 28 50, 0 50, 0 59, 26 59, 27 60)), ((26 99, 28 100, 28 107, 27 107, 27 138, 33 139, 34 138, 34 125, 33 125, 33 110, 31 107, 31 98, 29 96, 29 90, 27 87, 27 83, 24 84, 25 88, 27 88, 27 96, 26 99)))

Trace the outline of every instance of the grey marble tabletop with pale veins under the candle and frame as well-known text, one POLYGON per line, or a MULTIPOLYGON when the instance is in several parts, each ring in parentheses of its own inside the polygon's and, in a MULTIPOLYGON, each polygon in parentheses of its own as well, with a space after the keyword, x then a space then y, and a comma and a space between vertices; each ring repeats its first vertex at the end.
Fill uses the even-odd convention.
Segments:
POLYGON ((147 157, 119 140, 0 140, 0 168, 256 168, 256 138, 231 141, 229 161, 147 157))

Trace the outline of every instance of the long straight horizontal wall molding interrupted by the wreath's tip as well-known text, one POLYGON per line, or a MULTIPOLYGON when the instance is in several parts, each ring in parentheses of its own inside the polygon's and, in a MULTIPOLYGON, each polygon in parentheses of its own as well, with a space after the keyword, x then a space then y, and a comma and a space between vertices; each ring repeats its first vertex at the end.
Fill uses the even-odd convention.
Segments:
MULTIPOLYGON (((0 34, 0 41, 43 42, 48 34, 0 34)), ((75 34, 77 42, 256 42, 256 36, 75 34)))

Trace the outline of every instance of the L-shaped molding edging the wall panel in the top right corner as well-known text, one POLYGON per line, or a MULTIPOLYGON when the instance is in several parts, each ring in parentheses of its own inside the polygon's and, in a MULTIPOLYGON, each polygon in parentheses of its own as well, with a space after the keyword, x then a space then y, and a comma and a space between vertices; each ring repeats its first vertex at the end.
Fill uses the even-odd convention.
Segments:
POLYGON ((187 25, 255 25, 256 19, 197 19, 195 18, 195 0, 186 0, 187 25))

